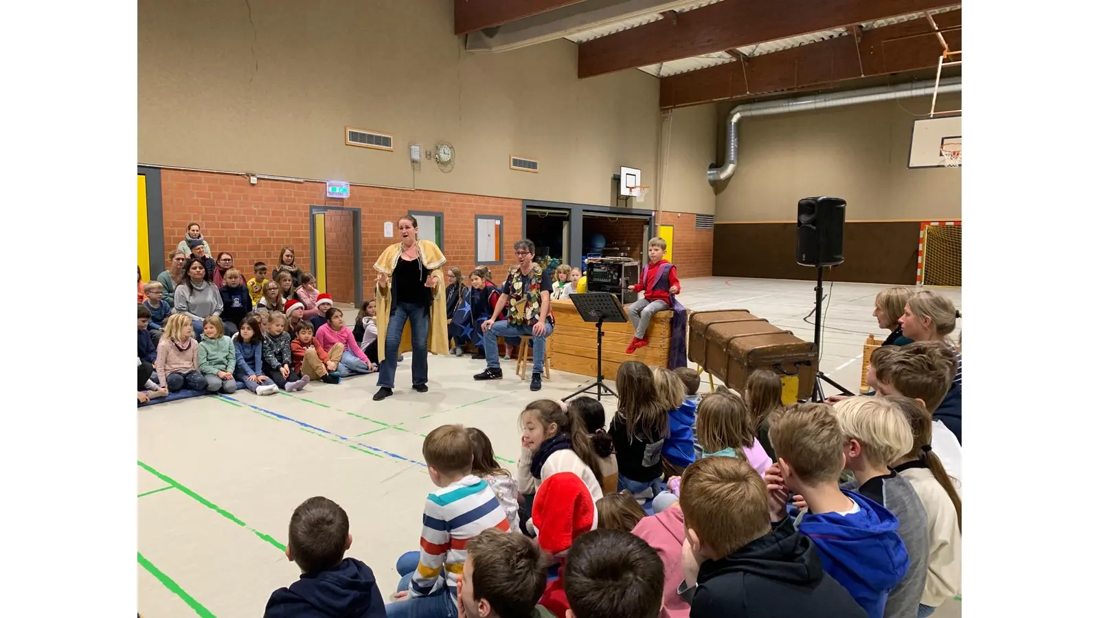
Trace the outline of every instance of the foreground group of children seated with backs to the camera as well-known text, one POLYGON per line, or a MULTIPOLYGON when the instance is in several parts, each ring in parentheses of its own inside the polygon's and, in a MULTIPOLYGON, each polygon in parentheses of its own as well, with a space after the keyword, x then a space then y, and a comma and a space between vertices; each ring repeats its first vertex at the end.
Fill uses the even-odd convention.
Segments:
POLYGON ((875 395, 784 406, 767 369, 700 397, 693 371, 626 362, 609 427, 589 397, 522 410, 514 476, 482 431, 439 427, 393 600, 311 498, 287 550, 302 577, 266 615, 929 616, 961 592, 961 470, 932 444, 957 360, 915 341, 870 363, 875 395))

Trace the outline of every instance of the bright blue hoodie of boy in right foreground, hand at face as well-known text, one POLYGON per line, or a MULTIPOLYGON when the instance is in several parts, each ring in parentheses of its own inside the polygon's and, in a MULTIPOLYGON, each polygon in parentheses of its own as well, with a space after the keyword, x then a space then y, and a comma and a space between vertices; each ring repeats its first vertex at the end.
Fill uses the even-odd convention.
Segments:
POLYGON ((843 493, 858 505, 858 512, 806 512, 798 531, 813 540, 821 566, 868 617, 881 618, 889 591, 908 573, 908 551, 893 514, 854 492, 843 493))

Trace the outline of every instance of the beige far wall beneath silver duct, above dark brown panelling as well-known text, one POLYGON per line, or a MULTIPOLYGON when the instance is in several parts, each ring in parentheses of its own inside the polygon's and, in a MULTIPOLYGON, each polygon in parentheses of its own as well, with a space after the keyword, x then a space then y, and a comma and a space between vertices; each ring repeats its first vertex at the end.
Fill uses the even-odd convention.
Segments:
MULTIPOLYGON (((936 104, 959 108, 957 95, 936 104)), ((959 169, 908 168, 912 121, 930 109, 930 98, 904 99, 743 119, 740 164, 714 219, 793 221, 798 200, 819 195, 847 200, 847 220, 961 219, 959 169)))

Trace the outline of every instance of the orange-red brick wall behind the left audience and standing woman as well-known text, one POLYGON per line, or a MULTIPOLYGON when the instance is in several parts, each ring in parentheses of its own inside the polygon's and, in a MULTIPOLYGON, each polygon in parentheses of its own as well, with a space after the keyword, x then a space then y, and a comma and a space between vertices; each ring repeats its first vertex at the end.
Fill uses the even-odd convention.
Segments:
MULTIPOLYGON (((409 210, 443 212, 443 252, 448 264, 458 266, 463 273, 468 273, 476 265, 475 214, 503 217, 506 249, 522 233, 522 202, 517 199, 375 187, 352 187, 349 198, 329 199, 324 195, 323 183, 260 179, 257 185, 249 185, 245 176, 174 169, 162 170, 160 181, 165 247, 168 251, 175 249, 187 233, 187 224, 198 222, 211 250, 214 253, 232 253, 247 277, 252 276, 252 264, 257 261, 266 262, 274 269, 282 246, 295 250, 297 263, 303 269, 312 268, 309 256, 310 205, 359 209, 363 291, 367 297, 373 295, 374 263, 384 249, 398 242, 397 220, 409 210), (395 238, 384 238, 386 221, 393 222, 395 238)), ((325 217, 331 217, 332 212, 325 217)), ((328 260, 331 261, 332 256, 328 260)), ((326 263, 331 269, 331 262, 326 263)), ((351 278, 352 272, 348 269, 344 276, 351 278)), ((331 273, 328 285, 338 285, 331 273)), ((354 290, 354 286, 351 289, 354 290)))

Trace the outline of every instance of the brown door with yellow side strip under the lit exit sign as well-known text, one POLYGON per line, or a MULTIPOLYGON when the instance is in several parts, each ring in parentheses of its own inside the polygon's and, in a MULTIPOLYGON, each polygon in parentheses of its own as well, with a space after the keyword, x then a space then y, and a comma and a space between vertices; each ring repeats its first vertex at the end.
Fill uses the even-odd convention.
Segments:
POLYGON ((309 207, 309 246, 317 289, 333 302, 363 304, 363 228, 357 208, 309 207))

